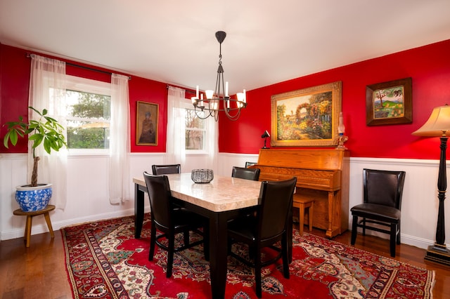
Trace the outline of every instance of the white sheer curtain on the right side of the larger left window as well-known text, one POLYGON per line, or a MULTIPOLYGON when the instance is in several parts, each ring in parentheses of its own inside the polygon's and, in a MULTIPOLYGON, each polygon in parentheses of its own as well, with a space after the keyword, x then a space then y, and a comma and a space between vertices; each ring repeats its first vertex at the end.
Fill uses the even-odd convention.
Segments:
POLYGON ((131 199, 130 192, 130 123, 127 76, 111 75, 110 119, 110 203, 120 204, 131 199))

